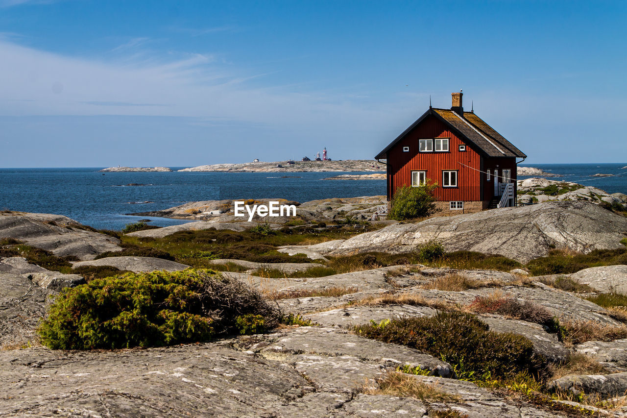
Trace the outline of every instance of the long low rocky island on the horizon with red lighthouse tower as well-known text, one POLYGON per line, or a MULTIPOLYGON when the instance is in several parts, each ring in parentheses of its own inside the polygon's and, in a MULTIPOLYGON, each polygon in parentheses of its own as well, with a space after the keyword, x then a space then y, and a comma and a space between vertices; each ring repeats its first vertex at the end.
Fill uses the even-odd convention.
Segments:
POLYGON ((374 159, 345 159, 342 161, 258 161, 256 163, 211 164, 184 168, 179 171, 228 171, 231 173, 283 173, 290 171, 385 171, 386 165, 374 159))

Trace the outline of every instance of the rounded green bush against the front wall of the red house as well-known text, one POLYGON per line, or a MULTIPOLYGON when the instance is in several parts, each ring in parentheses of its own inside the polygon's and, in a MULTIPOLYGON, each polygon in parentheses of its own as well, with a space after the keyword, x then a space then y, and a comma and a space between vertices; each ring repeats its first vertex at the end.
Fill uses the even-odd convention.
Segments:
POLYGON ((418 187, 401 186, 396 189, 391 201, 389 219, 408 220, 428 217, 435 212, 433 191, 438 185, 418 187))

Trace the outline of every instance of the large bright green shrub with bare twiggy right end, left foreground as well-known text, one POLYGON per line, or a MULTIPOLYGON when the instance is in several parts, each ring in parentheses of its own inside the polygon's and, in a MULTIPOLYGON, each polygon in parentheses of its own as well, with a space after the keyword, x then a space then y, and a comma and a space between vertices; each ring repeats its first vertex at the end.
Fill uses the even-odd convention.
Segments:
POLYGON ((280 319, 258 292, 211 270, 128 273, 65 289, 38 332, 53 349, 163 346, 239 331, 246 314, 268 327, 280 319))

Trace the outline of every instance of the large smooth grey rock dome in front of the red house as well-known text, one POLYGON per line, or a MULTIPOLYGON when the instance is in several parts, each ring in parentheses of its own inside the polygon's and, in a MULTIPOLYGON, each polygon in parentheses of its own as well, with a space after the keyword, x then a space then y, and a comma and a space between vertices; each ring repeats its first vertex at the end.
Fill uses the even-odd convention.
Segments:
POLYGON ((389 225, 334 244, 321 254, 385 251, 407 253, 430 240, 447 251, 500 254, 520 262, 542 257, 554 248, 590 252, 623 247, 627 218, 586 201, 556 201, 438 217, 418 223, 389 225))

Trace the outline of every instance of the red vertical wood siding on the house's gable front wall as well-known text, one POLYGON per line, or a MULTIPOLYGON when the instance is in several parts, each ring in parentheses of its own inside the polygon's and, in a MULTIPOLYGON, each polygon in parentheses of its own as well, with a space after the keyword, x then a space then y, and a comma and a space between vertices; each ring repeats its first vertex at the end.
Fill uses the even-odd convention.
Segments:
MULTIPOLYGON (((453 132, 448 131, 445 124, 430 115, 389 150, 387 197, 390 199, 400 186, 411 185, 411 171, 424 170, 427 172, 428 179, 440 185, 434 193, 436 200, 480 201, 482 200, 482 176, 477 171, 480 166, 481 156, 474 144, 461 141, 453 132), (437 137, 450 138, 448 153, 419 153, 419 139, 437 137), (459 151, 460 144, 466 145, 466 151, 459 151), (406 146, 409 147, 408 153, 403 152, 403 147, 406 146), (458 186, 456 188, 441 187, 443 170, 457 171, 458 186)), ((512 171, 512 176, 514 174, 512 171)), ((483 179, 485 180, 485 175, 483 179)))

